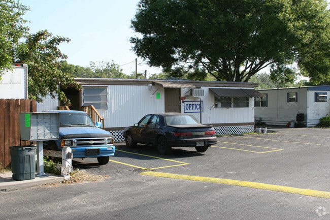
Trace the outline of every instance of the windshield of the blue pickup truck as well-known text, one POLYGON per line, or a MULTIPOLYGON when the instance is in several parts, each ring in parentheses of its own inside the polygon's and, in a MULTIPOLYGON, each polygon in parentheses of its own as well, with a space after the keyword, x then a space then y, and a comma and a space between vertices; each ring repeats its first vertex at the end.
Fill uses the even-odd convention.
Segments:
POLYGON ((87 126, 95 127, 90 117, 82 112, 61 112, 60 127, 87 126))

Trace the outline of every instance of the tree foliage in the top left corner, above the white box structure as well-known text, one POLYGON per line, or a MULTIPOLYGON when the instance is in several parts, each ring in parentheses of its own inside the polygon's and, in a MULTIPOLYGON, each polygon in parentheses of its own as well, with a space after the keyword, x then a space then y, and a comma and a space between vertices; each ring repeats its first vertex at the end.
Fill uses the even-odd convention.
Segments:
POLYGON ((19 40, 27 34, 22 18, 29 8, 12 0, 0 0, 0 75, 11 67, 19 40))

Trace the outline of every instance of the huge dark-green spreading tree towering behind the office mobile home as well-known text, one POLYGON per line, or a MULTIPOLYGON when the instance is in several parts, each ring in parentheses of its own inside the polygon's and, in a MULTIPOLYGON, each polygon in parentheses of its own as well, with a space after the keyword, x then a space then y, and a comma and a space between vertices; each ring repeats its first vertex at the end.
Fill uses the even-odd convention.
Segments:
POLYGON ((325 0, 141 0, 138 7, 131 27, 142 37, 130 38, 132 49, 174 75, 248 82, 269 67, 272 77, 293 82, 296 64, 312 81, 330 78, 325 0))

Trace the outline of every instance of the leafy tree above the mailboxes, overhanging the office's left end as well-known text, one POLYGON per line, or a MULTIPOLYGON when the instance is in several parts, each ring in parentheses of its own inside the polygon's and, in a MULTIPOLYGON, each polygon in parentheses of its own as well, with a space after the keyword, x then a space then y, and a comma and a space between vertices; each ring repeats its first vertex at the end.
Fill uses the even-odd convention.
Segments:
POLYGON ((42 101, 42 97, 50 95, 52 98, 70 105, 61 88, 74 87, 80 89, 69 73, 58 69, 59 60, 66 59, 58 49, 61 43, 70 42, 68 38, 53 36, 47 30, 26 37, 24 43, 17 50, 17 60, 28 66, 28 94, 30 99, 42 101))

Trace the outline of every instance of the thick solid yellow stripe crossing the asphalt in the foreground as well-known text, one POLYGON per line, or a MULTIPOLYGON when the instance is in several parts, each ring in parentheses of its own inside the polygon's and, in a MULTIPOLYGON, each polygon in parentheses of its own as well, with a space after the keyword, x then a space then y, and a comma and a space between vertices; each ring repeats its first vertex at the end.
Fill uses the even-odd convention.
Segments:
POLYGON ((213 183, 221 183, 228 185, 245 186, 250 188, 259 188, 261 190, 271 190, 271 191, 277 191, 283 193, 292 193, 292 194, 299 194, 304 196, 313 196, 313 197, 330 199, 330 192, 306 190, 304 188, 294 188, 294 187, 272 185, 272 184, 259 183, 259 182, 240 181, 233 179, 221 179, 221 178, 202 177, 202 176, 187 176, 187 175, 161 173, 161 172, 153 172, 153 171, 142 172, 140 174, 147 176, 173 178, 173 179, 186 179, 186 180, 201 181, 201 182, 213 182, 213 183))

